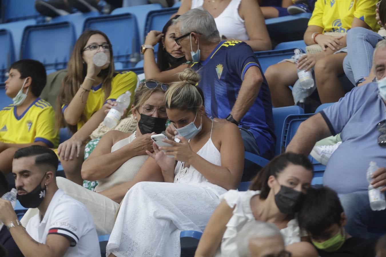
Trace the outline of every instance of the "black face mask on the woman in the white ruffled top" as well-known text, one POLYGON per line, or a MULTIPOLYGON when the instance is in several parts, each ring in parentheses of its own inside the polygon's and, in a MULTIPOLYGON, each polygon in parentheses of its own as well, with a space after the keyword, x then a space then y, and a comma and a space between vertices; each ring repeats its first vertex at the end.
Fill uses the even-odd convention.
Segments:
POLYGON ((300 210, 303 193, 288 186, 280 185, 280 191, 275 195, 275 203, 281 213, 295 214, 300 210))

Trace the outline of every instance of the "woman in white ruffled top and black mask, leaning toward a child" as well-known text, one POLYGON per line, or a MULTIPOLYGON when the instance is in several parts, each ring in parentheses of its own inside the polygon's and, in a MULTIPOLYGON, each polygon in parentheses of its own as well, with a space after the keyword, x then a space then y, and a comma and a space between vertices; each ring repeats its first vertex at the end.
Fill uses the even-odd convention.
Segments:
POLYGON ((196 257, 238 257, 236 235, 251 220, 274 223, 292 256, 318 256, 301 235, 295 213, 300 209, 313 176, 304 155, 275 157, 254 178, 248 191, 230 190, 210 218, 196 250, 196 257))

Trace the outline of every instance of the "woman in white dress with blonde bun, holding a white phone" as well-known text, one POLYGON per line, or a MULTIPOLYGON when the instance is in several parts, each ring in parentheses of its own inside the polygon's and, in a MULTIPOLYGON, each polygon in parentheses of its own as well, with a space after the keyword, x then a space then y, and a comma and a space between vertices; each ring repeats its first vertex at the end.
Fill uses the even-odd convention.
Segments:
POLYGON ((110 256, 179 256, 180 232, 202 231, 220 195, 240 182, 244 146, 239 129, 205 115, 196 72, 186 69, 179 77, 164 102, 180 141, 163 139, 171 146, 153 143, 154 153, 147 151, 169 183, 139 182, 127 191, 107 244, 110 256))

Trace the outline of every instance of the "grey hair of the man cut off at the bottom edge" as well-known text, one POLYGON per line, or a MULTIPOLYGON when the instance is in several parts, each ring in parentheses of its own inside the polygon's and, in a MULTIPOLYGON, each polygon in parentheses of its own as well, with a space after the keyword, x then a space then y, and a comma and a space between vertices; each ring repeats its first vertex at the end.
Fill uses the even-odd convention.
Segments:
MULTIPOLYGON (((273 223, 253 220, 244 225, 244 227, 237 233, 236 244, 240 257, 251 257, 251 250, 249 243, 252 239, 267 238, 267 237, 281 237, 280 230, 273 223)), ((283 241, 284 244, 284 241, 283 241)))

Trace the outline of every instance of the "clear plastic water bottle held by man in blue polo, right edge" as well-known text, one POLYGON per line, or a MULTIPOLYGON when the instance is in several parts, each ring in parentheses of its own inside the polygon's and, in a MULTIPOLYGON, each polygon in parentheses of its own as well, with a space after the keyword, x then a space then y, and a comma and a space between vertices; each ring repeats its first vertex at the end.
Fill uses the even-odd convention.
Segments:
POLYGON ((366 173, 367 181, 369 181, 368 190, 369 190, 370 207, 371 207, 371 210, 373 211, 380 211, 386 208, 385 194, 381 192, 382 187, 374 188, 370 184, 372 180, 371 178, 372 173, 374 173, 378 169, 379 167, 377 166, 377 163, 375 161, 370 161, 370 165, 366 173))

